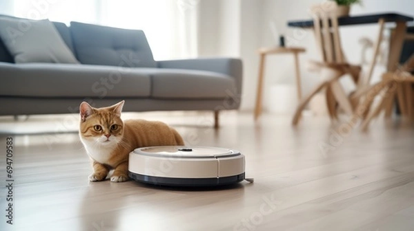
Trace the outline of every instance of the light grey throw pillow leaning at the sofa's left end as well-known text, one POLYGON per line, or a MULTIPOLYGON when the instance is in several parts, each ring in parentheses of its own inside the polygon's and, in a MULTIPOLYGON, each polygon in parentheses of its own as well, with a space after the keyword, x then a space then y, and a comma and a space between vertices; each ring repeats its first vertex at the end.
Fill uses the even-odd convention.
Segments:
POLYGON ((0 37, 15 63, 79 63, 48 19, 0 17, 0 37))

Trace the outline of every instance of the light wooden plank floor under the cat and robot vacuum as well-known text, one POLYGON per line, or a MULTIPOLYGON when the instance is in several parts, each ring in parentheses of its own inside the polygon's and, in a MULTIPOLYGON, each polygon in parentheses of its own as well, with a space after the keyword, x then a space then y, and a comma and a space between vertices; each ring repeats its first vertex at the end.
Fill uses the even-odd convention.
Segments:
MULTIPOLYGON (((327 118, 305 117, 293 129, 289 117, 264 115, 254 124, 251 114, 229 112, 214 131, 210 114, 131 115, 168 122, 187 144, 241 151, 247 177, 255 178, 254 184, 182 190, 89 182, 91 167, 77 133, 60 133, 62 127, 76 130, 65 122, 68 116, 0 119, 1 153, 8 129, 51 132, 12 135, 14 229, 1 215, 0 230, 414 229, 412 124, 378 120, 368 133, 337 134, 327 118)), ((2 187, 1 214, 6 193, 2 187)))

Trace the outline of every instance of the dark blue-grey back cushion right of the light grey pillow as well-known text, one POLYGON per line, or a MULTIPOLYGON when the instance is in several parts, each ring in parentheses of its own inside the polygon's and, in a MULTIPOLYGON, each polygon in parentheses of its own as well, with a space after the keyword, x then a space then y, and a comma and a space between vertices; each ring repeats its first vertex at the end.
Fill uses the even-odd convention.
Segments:
POLYGON ((157 67, 142 30, 70 23, 70 32, 83 64, 122 67, 157 67))

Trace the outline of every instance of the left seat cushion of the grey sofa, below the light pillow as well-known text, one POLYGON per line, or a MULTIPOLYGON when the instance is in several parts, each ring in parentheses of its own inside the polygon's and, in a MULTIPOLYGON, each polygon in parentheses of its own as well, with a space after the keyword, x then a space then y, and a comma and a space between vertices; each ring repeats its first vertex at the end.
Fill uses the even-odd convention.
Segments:
POLYGON ((0 96, 128 98, 150 96, 138 69, 51 63, 0 63, 0 96))

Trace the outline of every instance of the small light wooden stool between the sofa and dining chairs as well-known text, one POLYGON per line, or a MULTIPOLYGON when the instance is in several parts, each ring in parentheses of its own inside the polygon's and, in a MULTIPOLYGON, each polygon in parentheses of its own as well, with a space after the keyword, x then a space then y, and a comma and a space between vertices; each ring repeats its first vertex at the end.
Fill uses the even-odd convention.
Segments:
POLYGON ((259 78, 257 79, 257 95, 255 105, 255 120, 262 114, 262 94, 263 94, 263 78, 264 78, 264 61, 268 54, 293 54, 295 57, 295 74, 297 84, 297 98, 302 98, 302 88, 300 84, 299 58, 298 54, 305 52, 302 47, 272 47, 259 49, 260 63, 259 63, 259 78))

